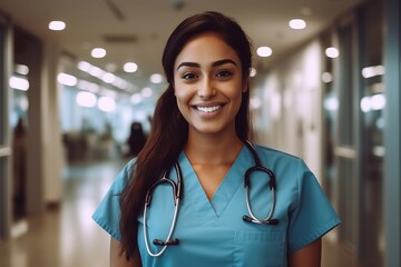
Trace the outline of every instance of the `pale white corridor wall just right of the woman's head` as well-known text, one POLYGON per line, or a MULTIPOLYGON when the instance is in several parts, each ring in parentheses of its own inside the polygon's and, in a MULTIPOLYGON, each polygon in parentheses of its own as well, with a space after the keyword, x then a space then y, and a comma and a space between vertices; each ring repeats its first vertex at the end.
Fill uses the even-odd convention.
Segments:
POLYGON ((258 78, 253 91, 262 100, 254 112, 256 141, 302 157, 317 178, 323 175, 321 55, 319 41, 312 41, 258 78))

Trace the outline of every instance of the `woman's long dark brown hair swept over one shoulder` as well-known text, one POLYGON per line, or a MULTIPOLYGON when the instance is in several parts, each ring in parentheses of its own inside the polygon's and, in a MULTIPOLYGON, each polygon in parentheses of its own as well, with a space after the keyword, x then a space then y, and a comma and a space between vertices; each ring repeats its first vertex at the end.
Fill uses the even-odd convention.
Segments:
MULTIPOLYGON (((137 219, 143 211, 146 191, 159 179, 163 171, 169 169, 177 160, 188 137, 188 123, 179 112, 174 95, 175 60, 190 38, 208 31, 218 33, 236 51, 242 62, 243 80, 248 87, 252 46, 234 19, 209 11, 185 19, 173 31, 163 53, 168 87, 156 103, 149 137, 137 157, 133 178, 120 196, 121 253, 125 251, 127 258, 137 249, 137 219)), ((236 134, 242 140, 247 139, 251 128, 248 105, 250 90, 246 90, 235 118, 236 134)))

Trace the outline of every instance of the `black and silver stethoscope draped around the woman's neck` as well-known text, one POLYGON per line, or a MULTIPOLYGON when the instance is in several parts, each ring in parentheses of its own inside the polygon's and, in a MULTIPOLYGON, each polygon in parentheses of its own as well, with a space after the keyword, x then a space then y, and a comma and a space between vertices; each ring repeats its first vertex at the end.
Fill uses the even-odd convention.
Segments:
MULTIPOLYGON (((255 150, 255 148, 253 147, 253 145, 250 141, 245 141, 244 142, 246 145, 246 147, 250 149, 250 151, 252 152, 252 156, 255 160, 255 166, 248 168, 245 172, 245 199, 246 199, 246 207, 247 210, 250 212, 250 215, 244 215, 243 216, 243 220, 247 221, 247 222, 254 222, 254 224, 261 224, 261 225, 277 225, 278 224, 278 219, 273 219, 273 212, 274 212, 274 208, 275 208, 275 177, 272 170, 263 167, 261 165, 261 160, 257 156, 257 152, 255 150), (251 187, 251 175, 254 171, 261 171, 264 172, 268 176, 270 181, 268 181, 268 187, 271 190, 271 196, 272 196, 272 204, 271 204, 271 208, 270 211, 267 214, 267 217, 265 219, 260 219, 257 218, 253 211, 252 211, 252 206, 251 206, 251 200, 250 200, 250 187, 251 187)), ((160 256, 166 248, 169 245, 178 245, 179 240, 177 238, 173 238, 173 231, 175 229, 176 226, 176 221, 177 221, 177 215, 178 215, 178 208, 179 208, 179 199, 182 198, 182 190, 183 190, 183 181, 182 181, 182 171, 179 169, 179 165, 176 162, 174 165, 175 171, 177 174, 177 182, 173 181, 172 179, 167 178, 167 171, 164 172, 163 177, 157 180, 150 188, 149 190, 146 192, 146 197, 145 197, 145 207, 144 207, 144 237, 145 237, 145 245, 146 245, 146 250, 147 253, 153 256, 153 257, 158 257, 160 256), (172 186, 173 189, 173 195, 174 195, 174 215, 173 215, 173 220, 170 224, 170 228, 167 235, 167 238, 165 241, 160 240, 160 239, 154 239, 153 244, 154 245, 158 245, 158 246, 163 246, 163 248, 158 251, 158 253, 153 253, 150 251, 149 248, 149 239, 148 239, 148 235, 147 235, 147 209, 150 206, 151 202, 151 192, 153 190, 159 186, 160 184, 168 184, 172 186)))

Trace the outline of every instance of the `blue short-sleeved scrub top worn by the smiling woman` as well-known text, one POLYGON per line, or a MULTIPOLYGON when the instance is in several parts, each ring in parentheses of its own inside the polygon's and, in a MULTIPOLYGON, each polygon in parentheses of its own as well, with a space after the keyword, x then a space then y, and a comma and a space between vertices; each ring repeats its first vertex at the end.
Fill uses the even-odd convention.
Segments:
MULTIPOLYGON (((288 254, 307 246, 340 224, 315 176, 302 159, 262 146, 255 148, 262 165, 276 177, 273 218, 280 222, 258 225, 242 219, 248 215, 244 175, 254 166, 246 146, 211 200, 182 152, 178 164, 183 175, 183 198, 173 233, 179 245, 168 246, 159 257, 149 256, 144 241, 144 218, 139 216, 138 247, 143 266, 286 266, 288 254)), ((119 192, 131 177, 134 166, 133 160, 119 172, 92 216, 117 240, 120 240, 119 192)), ((176 180, 174 168, 168 177, 176 180)), ((251 176, 251 205, 258 218, 265 218, 271 208, 267 181, 268 177, 261 171, 251 176)), ((154 190, 147 216, 153 253, 162 249, 153 240, 166 239, 174 207, 172 187, 162 184, 154 190)))

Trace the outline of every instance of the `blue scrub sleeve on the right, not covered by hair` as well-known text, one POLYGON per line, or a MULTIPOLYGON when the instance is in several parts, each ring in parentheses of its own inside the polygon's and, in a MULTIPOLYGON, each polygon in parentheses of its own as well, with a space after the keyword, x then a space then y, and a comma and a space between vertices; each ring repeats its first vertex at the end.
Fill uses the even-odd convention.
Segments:
POLYGON ((300 160, 300 174, 297 205, 290 214, 290 254, 307 246, 341 222, 317 179, 303 160, 300 160))

